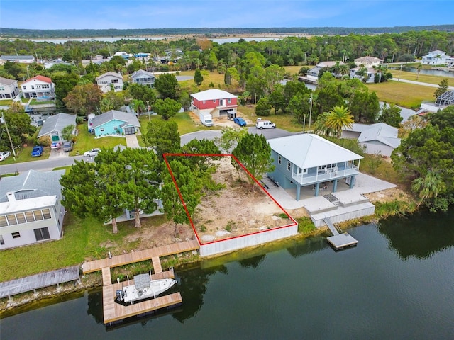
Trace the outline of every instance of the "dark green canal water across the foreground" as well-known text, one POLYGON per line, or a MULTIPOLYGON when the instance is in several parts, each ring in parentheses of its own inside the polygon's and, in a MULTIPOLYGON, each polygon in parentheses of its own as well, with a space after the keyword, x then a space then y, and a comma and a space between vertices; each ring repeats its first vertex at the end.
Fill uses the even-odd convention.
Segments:
POLYGON ((1 339, 453 339, 454 210, 348 232, 179 270, 183 305, 158 316, 106 327, 94 290, 1 319, 1 339))

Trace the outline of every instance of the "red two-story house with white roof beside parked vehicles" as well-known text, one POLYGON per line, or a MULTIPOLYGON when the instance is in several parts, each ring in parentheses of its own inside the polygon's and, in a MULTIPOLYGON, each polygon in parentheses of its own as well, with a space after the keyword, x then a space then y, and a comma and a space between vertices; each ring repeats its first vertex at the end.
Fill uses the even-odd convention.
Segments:
POLYGON ((194 113, 210 113, 212 117, 236 117, 238 97, 227 91, 210 89, 191 95, 191 106, 194 113))

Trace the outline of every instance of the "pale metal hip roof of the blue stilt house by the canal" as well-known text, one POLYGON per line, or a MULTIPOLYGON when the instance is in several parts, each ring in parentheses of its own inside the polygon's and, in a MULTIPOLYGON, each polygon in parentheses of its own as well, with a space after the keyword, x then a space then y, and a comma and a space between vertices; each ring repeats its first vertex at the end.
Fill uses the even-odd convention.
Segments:
POLYGON ((355 152, 311 133, 273 138, 268 140, 268 143, 277 154, 301 169, 363 158, 355 152))

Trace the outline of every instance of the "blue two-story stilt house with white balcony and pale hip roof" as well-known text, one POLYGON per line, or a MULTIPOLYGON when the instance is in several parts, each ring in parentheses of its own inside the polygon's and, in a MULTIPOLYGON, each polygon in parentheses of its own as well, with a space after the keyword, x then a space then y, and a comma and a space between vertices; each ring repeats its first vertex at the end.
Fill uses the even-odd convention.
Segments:
POLYGON ((311 133, 272 138, 268 143, 275 165, 268 176, 282 188, 293 189, 296 200, 304 186, 312 186, 315 196, 330 181, 333 192, 341 180, 353 188, 363 158, 359 154, 311 133))

